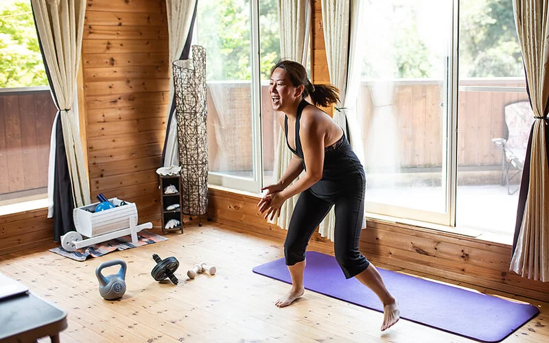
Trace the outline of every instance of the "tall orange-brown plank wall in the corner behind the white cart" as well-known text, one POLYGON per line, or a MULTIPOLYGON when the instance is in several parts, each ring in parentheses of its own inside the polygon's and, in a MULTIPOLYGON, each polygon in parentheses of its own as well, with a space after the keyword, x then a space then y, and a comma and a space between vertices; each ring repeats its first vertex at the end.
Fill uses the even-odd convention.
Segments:
POLYGON ((88 0, 82 39, 89 179, 97 193, 160 220, 160 166, 169 93, 164 0, 88 0))

